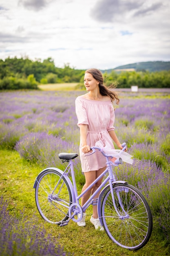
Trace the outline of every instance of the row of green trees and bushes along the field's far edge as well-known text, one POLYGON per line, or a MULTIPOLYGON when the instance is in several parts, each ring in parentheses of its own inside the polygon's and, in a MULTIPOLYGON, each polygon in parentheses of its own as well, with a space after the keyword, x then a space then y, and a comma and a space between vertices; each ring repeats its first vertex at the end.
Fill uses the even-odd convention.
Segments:
MULTIPOLYGON (((38 89, 38 84, 72 82, 79 83, 79 88, 83 88, 84 71, 70 67, 69 63, 64 64, 63 68, 55 67, 52 58, 32 61, 27 57, 8 57, 0 60, 0 90, 38 89)), ((120 88, 130 88, 132 85, 139 88, 170 88, 170 70, 105 71, 104 81, 106 85, 117 83, 120 88)))

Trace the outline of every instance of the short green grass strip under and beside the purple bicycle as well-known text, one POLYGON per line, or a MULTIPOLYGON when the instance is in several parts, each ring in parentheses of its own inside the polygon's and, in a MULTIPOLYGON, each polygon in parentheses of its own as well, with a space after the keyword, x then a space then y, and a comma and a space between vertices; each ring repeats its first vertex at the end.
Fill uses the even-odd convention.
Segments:
POLYGON ((11 214, 18 216, 24 211, 24 216, 31 219, 38 216, 38 225, 43 224, 47 233, 52 234, 66 252, 75 256, 166 256, 170 255, 168 248, 163 245, 154 230, 148 244, 139 251, 132 252, 114 244, 105 232, 97 231, 89 221, 92 209, 87 211, 86 227, 78 227, 73 221, 65 227, 52 225, 40 217, 35 205, 33 184, 36 176, 43 167, 29 164, 20 158, 14 150, 0 150, 0 191, 9 203, 11 214))

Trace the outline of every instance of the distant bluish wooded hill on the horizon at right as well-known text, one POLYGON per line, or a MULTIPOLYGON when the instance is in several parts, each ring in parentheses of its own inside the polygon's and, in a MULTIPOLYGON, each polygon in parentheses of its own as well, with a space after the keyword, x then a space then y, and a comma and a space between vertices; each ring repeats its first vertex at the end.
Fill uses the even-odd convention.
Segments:
POLYGON ((170 70, 170 61, 147 61, 147 62, 132 63, 132 64, 118 66, 109 70, 102 70, 102 72, 110 73, 113 70, 115 70, 115 72, 144 71, 144 70, 149 72, 156 72, 156 71, 162 71, 162 70, 170 70))

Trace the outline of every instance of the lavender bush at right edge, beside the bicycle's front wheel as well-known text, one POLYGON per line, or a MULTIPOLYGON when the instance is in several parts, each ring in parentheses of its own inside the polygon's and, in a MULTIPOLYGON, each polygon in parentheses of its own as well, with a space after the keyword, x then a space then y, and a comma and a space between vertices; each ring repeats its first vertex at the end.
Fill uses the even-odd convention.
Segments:
POLYGON ((170 175, 162 171, 138 182, 139 189, 144 193, 150 204, 155 234, 163 234, 167 243, 170 243, 170 175))

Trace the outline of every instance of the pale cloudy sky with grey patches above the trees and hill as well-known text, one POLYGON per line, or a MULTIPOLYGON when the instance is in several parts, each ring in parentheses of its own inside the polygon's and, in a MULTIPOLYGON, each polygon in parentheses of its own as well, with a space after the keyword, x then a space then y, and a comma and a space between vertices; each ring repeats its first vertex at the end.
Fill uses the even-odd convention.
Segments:
POLYGON ((0 0, 0 59, 57 67, 170 61, 170 0, 0 0))

